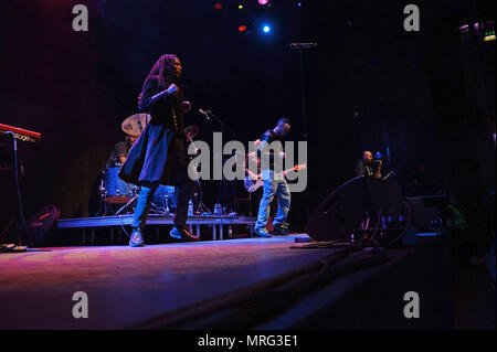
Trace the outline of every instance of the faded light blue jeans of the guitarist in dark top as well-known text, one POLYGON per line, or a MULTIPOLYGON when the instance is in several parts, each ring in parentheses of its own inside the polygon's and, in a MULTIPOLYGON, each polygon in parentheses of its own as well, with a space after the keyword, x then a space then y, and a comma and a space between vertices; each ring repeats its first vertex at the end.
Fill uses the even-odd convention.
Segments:
POLYGON ((290 205, 290 192, 285 178, 275 180, 273 172, 263 172, 264 174, 264 193, 258 205, 257 222, 255 228, 263 228, 266 226, 269 218, 269 204, 274 196, 278 198, 278 212, 273 221, 273 225, 286 224, 288 211, 290 205), (268 175, 266 178, 266 174, 268 175))

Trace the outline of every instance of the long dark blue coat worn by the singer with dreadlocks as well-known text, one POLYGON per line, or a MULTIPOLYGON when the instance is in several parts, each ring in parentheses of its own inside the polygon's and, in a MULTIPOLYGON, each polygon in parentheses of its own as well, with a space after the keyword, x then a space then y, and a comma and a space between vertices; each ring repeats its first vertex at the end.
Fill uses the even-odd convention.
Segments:
POLYGON ((133 184, 144 181, 179 185, 188 182, 182 170, 187 160, 181 90, 170 95, 158 77, 144 85, 138 108, 151 116, 140 137, 129 150, 119 178, 133 184), (178 157, 181 168, 177 168, 178 157), (184 159, 184 160, 183 160, 184 159), (173 168, 175 167, 175 168, 173 168), (180 177, 178 170, 181 169, 180 177))

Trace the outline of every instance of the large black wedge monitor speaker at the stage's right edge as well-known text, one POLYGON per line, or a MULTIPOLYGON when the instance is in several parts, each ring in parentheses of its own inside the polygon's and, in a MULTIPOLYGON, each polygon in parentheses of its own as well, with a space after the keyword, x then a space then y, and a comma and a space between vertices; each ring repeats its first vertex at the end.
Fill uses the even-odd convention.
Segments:
POLYGON ((340 185, 319 204, 305 231, 315 241, 349 239, 367 216, 372 226, 378 222, 380 210, 385 214, 400 211, 403 202, 396 182, 358 177, 340 185))

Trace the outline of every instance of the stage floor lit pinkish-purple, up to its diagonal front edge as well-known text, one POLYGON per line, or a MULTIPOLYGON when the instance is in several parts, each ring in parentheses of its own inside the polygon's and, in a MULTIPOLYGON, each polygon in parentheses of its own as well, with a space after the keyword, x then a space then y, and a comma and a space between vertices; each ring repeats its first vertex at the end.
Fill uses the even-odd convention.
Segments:
POLYGON ((118 329, 272 278, 336 249, 296 236, 0 254, 0 329, 118 329), (88 318, 72 316, 73 294, 88 318))

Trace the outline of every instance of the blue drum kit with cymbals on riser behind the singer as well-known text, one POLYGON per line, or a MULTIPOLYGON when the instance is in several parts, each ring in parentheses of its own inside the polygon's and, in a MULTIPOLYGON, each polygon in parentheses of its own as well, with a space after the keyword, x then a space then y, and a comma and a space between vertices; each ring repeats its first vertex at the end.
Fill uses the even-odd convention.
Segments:
MULTIPOLYGON (((148 114, 135 114, 126 118, 120 125, 121 130, 133 137, 139 137, 145 130, 145 127, 150 121, 150 115, 148 114)), ((198 126, 189 126, 184 129, 187 139, 193 142, 193 138, 197 137, 200 129, 198 126)), ((131 205, 139 194, 139 186, 135 184, 127 183, 119 179, 118 174, 123 164, 114 160, 110 164, 102 171, 103 178, 99 185, 101 193, 101 204, 104 201, 105 214, 114 213, 119 215, 125 210, 133 212, 131 205), (121 207, 114 211, 114 206, 121 207)), ((200 182, 197 182, 197 188, 200 188, 200 182)), ((198 192, 201 194, 201 190, 198 192)), ((201 204, 201 200, 200 200, 201 204)), ((162 214, 172 215, 177 205, 177 194, 175 186, 160 184, 154 194, 151 211, 162 214)))

